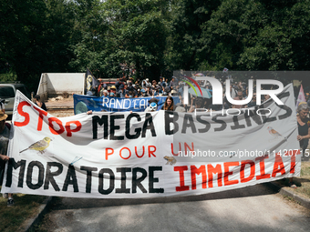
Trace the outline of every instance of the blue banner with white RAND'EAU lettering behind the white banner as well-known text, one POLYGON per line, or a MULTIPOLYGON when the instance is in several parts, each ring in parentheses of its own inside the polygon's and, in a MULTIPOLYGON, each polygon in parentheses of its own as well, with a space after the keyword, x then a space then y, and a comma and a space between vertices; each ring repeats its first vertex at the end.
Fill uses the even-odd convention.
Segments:
MULTIPOLYGON (((158 108, 165 103, 167 96, 155 96, 159 99, 158 108)), ((149 100, 152 97, 136 97, 136 98, 122 98, 122 97, 109 97, 109 96, 83 96, 74 95, 74 113, 78 115, 80 113, 92 111, 107 111, 107 112, 143 112, 150 104, 149 100)), ((179 97, 173 97, 174 104, 177 104, 180 100, 179 97)))

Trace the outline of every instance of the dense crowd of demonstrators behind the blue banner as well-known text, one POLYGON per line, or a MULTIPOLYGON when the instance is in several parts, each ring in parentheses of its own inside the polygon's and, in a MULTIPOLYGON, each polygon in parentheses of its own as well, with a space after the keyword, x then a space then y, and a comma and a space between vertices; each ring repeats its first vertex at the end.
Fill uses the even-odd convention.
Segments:
MULTIPOLYGON (((178 103, 179 110, 182 112, 193 112, 194 108, 200 107, 208 110, 222 110, 228 108, 246 108, 260 105, 263 101, 267 100, 270 96, 263 96, 259 104, 256 103, 256 93, 253 92, 252 100, 246 105, 232 105, 226 97, 226 82, 220 79, 223 86, 222 105, 212 105, 212 98, 206 98, 202 96, 189 96, 189 106, 183 104, 183 87, 186 84, 182 81, 181 77, 172 76, 171 79, 160 76, 160 80, 150 80, 145 78, 143 80, 134 81, 133 78, 126 76, 118 78, 113 86, 107 86, 103 84, 100 86, 99 91, 88 91, 88 95, 96 96, 109 96, 109 97, 124 97, 124 98, 136 98, 136 97, 155 97, 155 96, 179 96, 181 103, 178 103)), ((200 87, 210 91, 212 93, 212 85, 209 82, 198 81, 200 87)), ((271 86, 269 86, 271 87, 271 86)), ((189 89, 191 86, 189 86, 189 89)), ((268 86, 267 86, 268 88, 268 86)), ((254 89, 255 90, 255 87, 254 89)), ((248 85, 241 81, 231 81, 229 87, 230 96, 234 100, 243 100, 248 96, 248 85)), ((307 99, 310 104, 310 95, 307 95, 307 99)), ((174 106, 174 109, 178 108, 174 106)))

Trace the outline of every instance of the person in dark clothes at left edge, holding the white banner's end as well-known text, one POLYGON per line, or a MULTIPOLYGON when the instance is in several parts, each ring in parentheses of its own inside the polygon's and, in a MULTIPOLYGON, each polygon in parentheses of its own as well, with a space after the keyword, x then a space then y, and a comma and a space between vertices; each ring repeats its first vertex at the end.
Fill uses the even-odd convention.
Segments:
MULTIPOLYGON (((6 156, 7 154, 7 146, 10 136, 10 129, 11 125, 8 123, 5 123, 5 119, 7 118, 7 115, 0 111, 0 183, 3 182, 3 175, 5 171, 5 163, 9 160, 9 156, 6 156)), ((3 197, 8 197, 7 199, 7 207, 14 206, 14 199, 13 194, 4 194, 3 197)))

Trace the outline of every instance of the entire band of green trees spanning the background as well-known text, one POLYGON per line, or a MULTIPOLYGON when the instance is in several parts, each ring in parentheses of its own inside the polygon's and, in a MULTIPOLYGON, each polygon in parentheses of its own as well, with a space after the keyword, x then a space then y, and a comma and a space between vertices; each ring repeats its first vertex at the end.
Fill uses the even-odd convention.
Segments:
POLYGON ((310 65, 309 0, 0 0, 0 14, 2 78, 32 91, 42 73, 87 67, 153 79, 310 65))

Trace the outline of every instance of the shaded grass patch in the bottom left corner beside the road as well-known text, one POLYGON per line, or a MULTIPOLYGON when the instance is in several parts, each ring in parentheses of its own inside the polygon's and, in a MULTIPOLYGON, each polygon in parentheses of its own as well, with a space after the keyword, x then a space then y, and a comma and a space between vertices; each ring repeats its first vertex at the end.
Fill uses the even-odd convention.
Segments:
POLYGON ((14 207, 7 207, 7 199, 0 197, 0 231, 16 231, 24 221, 38 212, 39 205, 47 198, 26 194, 14 194, 14 207))

